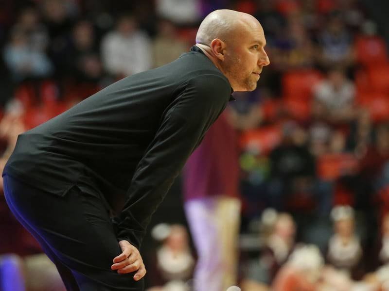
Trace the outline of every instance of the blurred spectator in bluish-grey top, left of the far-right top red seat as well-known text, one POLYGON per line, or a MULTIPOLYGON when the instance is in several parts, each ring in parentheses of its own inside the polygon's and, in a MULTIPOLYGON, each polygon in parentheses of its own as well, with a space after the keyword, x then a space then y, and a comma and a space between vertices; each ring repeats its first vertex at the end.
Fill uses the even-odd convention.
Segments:
POLYGON ((347 31, 342 14, 334 11, 318 37, 318 64, 324 68, 339 65, 348 68, 354 64, 353 39, 347 31))

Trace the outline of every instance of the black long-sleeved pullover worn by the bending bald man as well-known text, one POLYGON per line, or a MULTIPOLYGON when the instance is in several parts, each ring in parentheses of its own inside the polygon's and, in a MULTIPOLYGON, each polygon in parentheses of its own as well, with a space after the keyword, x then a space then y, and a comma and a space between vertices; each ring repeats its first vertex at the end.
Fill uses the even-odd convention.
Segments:
POLYGON ((139 248, 151 215, 231 93, 194 46, 20 134, 3 175, 60 196, 83 181, 107 200, 122 197, 118 240, 139 248))

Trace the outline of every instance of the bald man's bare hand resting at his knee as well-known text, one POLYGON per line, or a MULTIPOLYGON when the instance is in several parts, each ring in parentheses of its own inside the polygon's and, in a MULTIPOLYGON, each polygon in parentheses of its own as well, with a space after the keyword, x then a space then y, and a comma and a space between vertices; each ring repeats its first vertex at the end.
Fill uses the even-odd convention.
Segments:
POLYGON ((141 254, 135 246, 127 241, 120 241, 119 245, 123 253, 113 259, 114 264, 111 269, 118 270, 119 274, 127 274, 138 270, 134 275, 134 280, 140 280, 146 274, 141 254))

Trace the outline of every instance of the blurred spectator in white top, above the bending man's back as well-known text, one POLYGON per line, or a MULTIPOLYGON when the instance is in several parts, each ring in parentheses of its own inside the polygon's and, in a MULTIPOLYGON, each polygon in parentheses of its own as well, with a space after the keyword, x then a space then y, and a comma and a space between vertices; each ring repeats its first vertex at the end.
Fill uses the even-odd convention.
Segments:
POLYGON ((115 30, 108 32, 101 45, 103 65, 115 78, 145 71, 151 67, 151 44, 138 29, 134 16, 121 16, 115 30))

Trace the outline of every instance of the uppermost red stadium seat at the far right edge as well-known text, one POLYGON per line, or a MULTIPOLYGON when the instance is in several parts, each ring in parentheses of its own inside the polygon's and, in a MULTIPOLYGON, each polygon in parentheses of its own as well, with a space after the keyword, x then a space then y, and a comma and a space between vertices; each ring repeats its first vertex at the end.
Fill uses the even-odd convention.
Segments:
POLYGON ((385 42, 378 36, 361 36, 355 42, 357 62, 371 67, 388 63, 385 42))

